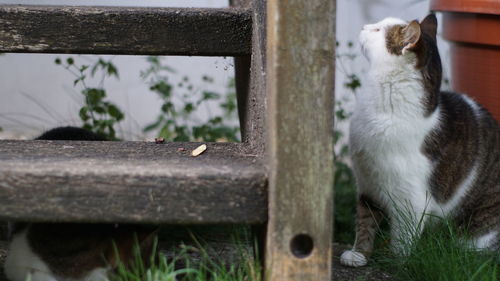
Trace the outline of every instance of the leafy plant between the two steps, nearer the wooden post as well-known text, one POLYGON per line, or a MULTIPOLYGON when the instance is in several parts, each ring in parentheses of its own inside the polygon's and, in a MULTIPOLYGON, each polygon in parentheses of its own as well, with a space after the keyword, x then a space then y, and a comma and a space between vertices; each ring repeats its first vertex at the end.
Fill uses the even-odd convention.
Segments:
POLYGON ((239 127, 231 125, 237 120, 236 92, 231 79, 225 94, 203 90, 214 83, 208 75, 201 78, 197 87, 188 76, 183 76, 176 85, 172 76, 178 75, 160 57, 148 57, 149 67, 141 77, 162 100, 161 111, 156 120, 144 128, 144 132, 158 130, 158 136, 168 141, 231 141, 239 140, 239 127), (213 114, 210 104, 216 104, 219 114, 213 114), (205 110, 207 121, 197 118, 205 110))

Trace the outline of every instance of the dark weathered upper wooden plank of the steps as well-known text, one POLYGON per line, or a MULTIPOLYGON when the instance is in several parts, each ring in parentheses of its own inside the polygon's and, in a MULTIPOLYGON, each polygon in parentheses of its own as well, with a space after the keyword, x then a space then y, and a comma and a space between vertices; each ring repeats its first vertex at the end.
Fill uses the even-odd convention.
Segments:
POLYGON ((249 9, 0 5, 0 52, 249 55, 249 9))

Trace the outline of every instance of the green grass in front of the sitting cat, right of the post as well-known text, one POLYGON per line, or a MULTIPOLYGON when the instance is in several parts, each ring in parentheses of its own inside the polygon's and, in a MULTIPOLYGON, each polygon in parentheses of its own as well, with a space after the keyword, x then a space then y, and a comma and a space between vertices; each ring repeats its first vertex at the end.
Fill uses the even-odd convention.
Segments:
POLYGON ((439 219, 414 245, 406 245, 408 256, 384 247, 375 250, 374 264, 404 281, 498 281, 500 253, 472 249, 466 237, 449 220, 439 219))

